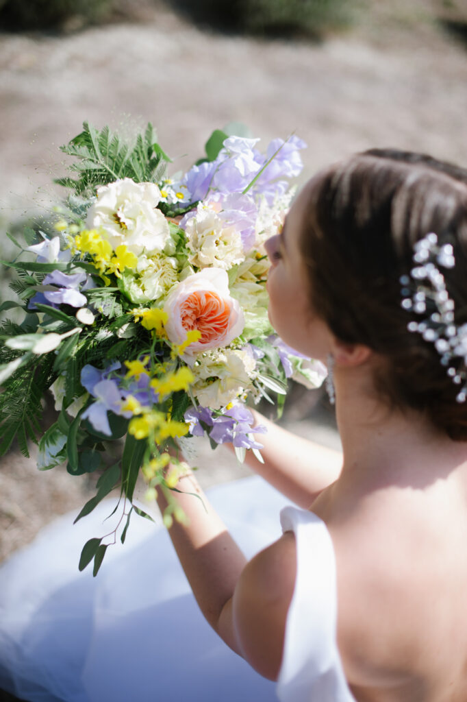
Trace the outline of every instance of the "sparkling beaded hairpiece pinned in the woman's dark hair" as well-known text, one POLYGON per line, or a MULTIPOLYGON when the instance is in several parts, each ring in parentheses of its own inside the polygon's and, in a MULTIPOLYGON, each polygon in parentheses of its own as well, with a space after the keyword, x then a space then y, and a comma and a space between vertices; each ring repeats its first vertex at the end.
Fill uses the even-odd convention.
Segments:
POLYGON ((440 246, 437 235, 431 232, 414 245, 413 261, 416 265, 410 276, 400 277, 401 305, 407 312, 424 316, 419 322, 409 322, 407 329, 435 345, 447 375, 459 385, 457 402, 466 402, 467 324, 454 323, 454 300, 449 298, 440 272, 440 267, 453 268, 456 263, 452 245, 440 246))

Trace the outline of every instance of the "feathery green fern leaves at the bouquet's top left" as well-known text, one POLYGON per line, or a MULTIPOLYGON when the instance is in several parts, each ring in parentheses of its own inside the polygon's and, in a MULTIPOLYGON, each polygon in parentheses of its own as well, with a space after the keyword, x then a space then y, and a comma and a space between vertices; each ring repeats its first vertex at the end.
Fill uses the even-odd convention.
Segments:
POLYGON ((90 199, 96 185, 113 183, 118 178, 131 178, 135 183, 161 180, 170 159, 156 140, 151 124, 134 143, 112 134, 108 126, 101 131, 88 122, 83 131, 60 150, 76 159, 69 171, 76 178, 58 178, 55 183, 74 191, 81 199, 90 199))

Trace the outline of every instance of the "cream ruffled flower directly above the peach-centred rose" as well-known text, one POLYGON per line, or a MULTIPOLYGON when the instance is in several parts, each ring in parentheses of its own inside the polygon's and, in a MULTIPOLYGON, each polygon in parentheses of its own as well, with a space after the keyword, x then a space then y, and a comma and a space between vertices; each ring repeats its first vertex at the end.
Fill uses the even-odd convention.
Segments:
POLYGON ((185 232, 191 265, 229 270, 245 258, 240 232, 226 225, 210 206, 198 205, 196 216, 187 221, 185 232))

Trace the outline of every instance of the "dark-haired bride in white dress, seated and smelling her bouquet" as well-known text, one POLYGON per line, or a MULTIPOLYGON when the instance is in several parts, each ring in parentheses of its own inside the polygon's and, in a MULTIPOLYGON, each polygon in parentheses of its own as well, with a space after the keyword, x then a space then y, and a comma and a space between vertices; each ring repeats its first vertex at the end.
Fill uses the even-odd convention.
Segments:
POLYGON ((94 581, 75 574, 62 518, 0 569, 0 687, 37 701, 467 698, 467 172, 357 154, 311 179, 267 249, 271 322, 327 363, 343 455, 257 415, 264 464, 248 460, 274 489, 255 477, 209 502, 187 467, 187 521, 168 531, 187 580, 151 527, 94 581))

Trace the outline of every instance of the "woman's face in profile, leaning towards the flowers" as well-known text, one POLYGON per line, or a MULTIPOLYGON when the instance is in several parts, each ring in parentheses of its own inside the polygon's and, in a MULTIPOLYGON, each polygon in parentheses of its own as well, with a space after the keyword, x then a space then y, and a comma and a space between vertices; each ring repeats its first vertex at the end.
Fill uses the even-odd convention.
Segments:
POLYGON ((309 187, 311 183, 292 205, 282 234, 266 241, 271 260, 268 313, 271 324, 285 343, 309 357, 325 360, 330 350, 330 330, 313 309, 299 245, 309 187))

